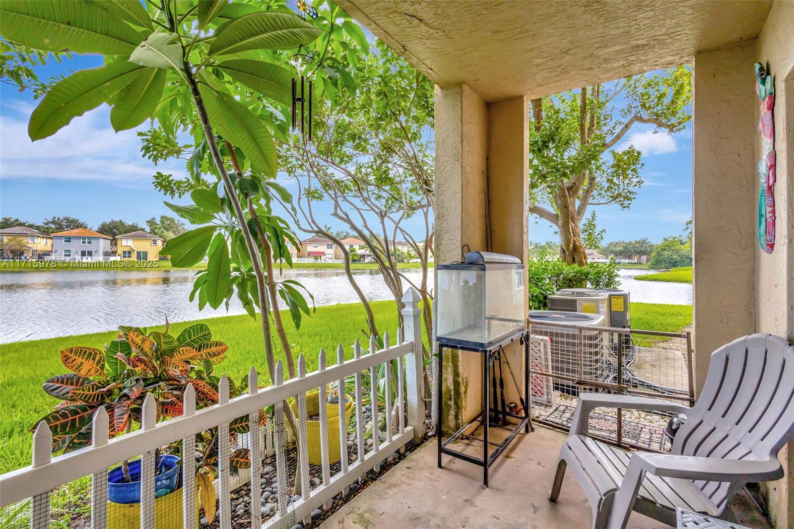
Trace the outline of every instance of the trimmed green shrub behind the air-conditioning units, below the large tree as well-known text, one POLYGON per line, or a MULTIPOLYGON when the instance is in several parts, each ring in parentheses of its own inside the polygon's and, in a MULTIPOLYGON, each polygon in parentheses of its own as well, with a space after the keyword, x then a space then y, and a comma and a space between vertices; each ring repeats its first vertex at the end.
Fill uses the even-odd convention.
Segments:
POLYGON ((530 309, 545 310, 549 295, 561 288, 619 288, 618 268, 611 263, 587 266, 563 261, 528 261, 530 309))

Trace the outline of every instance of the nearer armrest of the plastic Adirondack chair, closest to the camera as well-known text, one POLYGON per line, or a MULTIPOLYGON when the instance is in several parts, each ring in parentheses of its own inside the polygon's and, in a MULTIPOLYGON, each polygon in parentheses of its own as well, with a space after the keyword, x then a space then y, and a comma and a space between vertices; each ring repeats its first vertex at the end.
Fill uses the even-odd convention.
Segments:
POLYGON ((752 459, 698 458, 673 454, 635 452, 631 458, 642 460, 642 469, 660 477, 703 481, 775 481, 783 477, 777 458, 752 459))

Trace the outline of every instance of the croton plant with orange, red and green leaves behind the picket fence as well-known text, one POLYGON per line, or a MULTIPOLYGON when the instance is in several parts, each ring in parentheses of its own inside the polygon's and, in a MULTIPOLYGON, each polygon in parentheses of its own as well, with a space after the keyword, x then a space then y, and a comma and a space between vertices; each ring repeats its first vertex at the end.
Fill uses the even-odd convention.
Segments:
MULTIPOLYGON (((176 337, 168 334, 168 325, 165 332, 147 333, 130 326, 119 329, 118 339, 106 344, 104 350, 75 346, 61 351, 61 361, 71 373, 44 382, 44 391, 60 403, 37 420, 33 429, 42 421, 48 424, 54 452, 70 452, 91 444, 91 419, 100 406, 110 417, 110 436, 114 437, 141 423, 141 407, 149 393, 155 398, 158 419, 182 415, 188 383, 195 389, 197 407, 218 402, 220 379, 214 365, 225 358, 228 346, 212 339, 209 326, 197 323, 176 337)), ((231 396, 242 387, 240 384, 238 389, 229 380, 231 396)), ((231 433, 247 431, 247 421, 247 416, 233 421, 231 433)), ((196 438, 197 458, 204 465, 217 461, 217 454, 213 458, 203 453, 216 448, 212 442, 215 437, 208 431, 196 438)), ((237 450, 233 462, 241 468, 247 456, 247 451, 237 450)))

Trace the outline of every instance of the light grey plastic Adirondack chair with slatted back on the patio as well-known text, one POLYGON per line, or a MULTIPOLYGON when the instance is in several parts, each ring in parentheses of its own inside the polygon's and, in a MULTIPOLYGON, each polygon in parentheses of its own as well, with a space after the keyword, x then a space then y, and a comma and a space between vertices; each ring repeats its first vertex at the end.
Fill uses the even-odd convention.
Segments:
POLYGON ((622 529, 631 511, 676 525, 676 507, 725 516, 742 485, 783 477, 777 452, 794 435, 794 346, 751 334, 711 354, 706 383, 689 408, 635 396, 580 394, 549 492, 567 465, 590 500, 592 527, 622 529), (685 413, 672 454, 626 453, 588 437, 596 407, 685 413), (725 513, 725 514, 723 514, 725 513))

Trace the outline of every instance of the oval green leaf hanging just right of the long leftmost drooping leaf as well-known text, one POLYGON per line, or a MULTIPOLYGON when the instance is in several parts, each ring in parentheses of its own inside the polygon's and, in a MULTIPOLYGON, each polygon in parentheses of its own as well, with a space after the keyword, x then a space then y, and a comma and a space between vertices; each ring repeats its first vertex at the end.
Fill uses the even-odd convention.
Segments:
POLYGON ((154 114, 163 95, 167 75, 160 68, 145 68, 132 83, 118 92, 116 104, 110 110, 110 125, 116 132, 134 129, 154 114))

